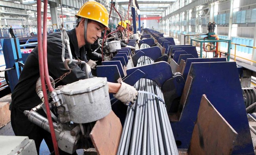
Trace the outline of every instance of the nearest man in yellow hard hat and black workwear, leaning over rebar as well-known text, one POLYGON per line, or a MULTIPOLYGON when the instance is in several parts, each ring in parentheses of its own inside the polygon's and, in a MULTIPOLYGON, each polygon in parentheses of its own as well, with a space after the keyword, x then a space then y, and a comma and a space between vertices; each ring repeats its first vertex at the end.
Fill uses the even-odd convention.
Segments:
MULTIPOLYGON (((73 59, 79 59, 87 62, 84 46, 93 44, 100 36, 104 29, 108 29, 108 11, 98 2, 86 2, 78 11, 76 17, 78 24, 71 31, 67 31, 69 36, 70 49, 73 59)), ((71 71, 55 86, 66 85, 80 79, 85 79, 85 72, 82 65, 75 63, 69 64, 72 70, 65 69, 61 58, 62 40, 61 32, 51 33, 47 36, 47 58, 49 75, 56 80, 65 73, 71 71)), ((68 58, 68 50, 65 48, 65 58, 68 58)), ((15 86, 11 95, 11 125, 15 135, 28 136, 29 139, 35 140, 37 153, 43 139, 52 152, 54 150, 50 133, 33 124, 23 114, 24 110, 30 110, 40 104, 42 101, 35 91, 39 75, 38 47, 35 47, 26 59, 24 68, 20 74, 18 84, 15 86)), ((137 90, 124 82, 108 82, 108 91, 113 93, 114 97, 121 102, 131 102, 137 99, 137 90)), ((39 114, 46 116, 42 109, 37 111, 39 114)), ((60 150, 60 154, 67 154, 60 150)), ((76 152, 75 152, 76 154, 76 152)))

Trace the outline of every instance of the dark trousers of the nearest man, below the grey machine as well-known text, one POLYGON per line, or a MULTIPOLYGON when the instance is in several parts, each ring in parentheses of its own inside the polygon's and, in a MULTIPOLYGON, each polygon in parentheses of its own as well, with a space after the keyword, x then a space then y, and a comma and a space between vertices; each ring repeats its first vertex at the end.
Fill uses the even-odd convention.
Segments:
MULTIPOLYGON (((46 114, 43 110, 39 110, 37 112, 46 117, 46 114)), ((38 155, 39 148, 43 139, 45 139, 50 152, 54 151, 51 134, 43 128, 40 128, 39 126, 30 122, 28 118, 22 113, 22 111, 19 111, 16 108, 11 110, 11 126, 16 136, 28 136, 29 139, 35 140, 35 146, 38 155)), ((69 155, 69 153, 61 151, 60 149, 59 154, 69 155)), ((76 155, 76 152, 73 153, 73 155, 76 155)))

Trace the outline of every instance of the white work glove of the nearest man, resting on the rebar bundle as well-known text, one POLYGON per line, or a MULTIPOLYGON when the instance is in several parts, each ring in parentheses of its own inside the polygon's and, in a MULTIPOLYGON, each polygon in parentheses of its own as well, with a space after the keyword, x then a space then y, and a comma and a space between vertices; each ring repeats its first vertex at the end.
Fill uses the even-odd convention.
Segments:
POLYGON ((126 106, 132 106, 134 101, 137 100, 138 91, 129 84, 121 82, 119 91, 113 96, 123 102, 126 106))

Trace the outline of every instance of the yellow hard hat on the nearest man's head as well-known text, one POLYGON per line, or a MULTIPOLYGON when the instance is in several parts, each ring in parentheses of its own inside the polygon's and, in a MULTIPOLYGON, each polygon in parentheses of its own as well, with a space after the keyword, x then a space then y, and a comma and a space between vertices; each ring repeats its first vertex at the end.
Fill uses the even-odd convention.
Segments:
POLYGON ((108 11, 102 4, 98 2, 86 2, 83 4, 76 14, 77 18, 78 16, 95 20, 108 28, 108 11))

